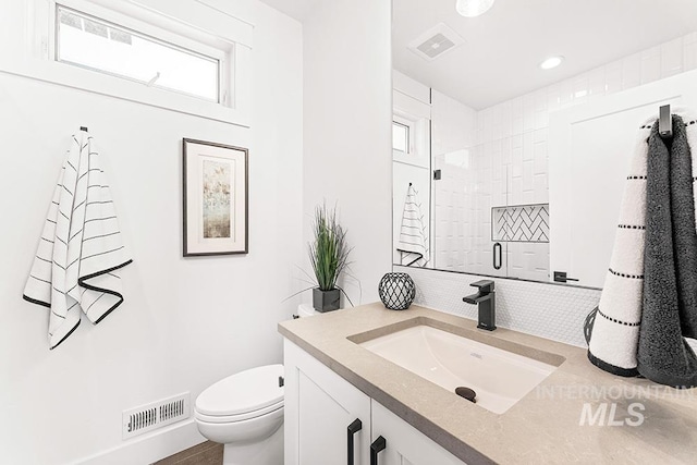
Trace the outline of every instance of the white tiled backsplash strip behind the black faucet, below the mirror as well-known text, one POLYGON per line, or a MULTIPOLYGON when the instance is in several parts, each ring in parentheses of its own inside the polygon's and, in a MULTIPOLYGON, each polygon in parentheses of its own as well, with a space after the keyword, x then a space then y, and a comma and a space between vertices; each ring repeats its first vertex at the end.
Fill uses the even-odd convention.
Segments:
MULTIPOLYGON (((399 266, 394 266, 394 271, 408 273, 414 280, 415 304, 477 319, 477 306, 465 304, 462 297, 476 292, 470 283, 487 278, 399 266)), ((598 305, 600 291, 504 278, 493 280, 498 327, 586 347, 584 320, 598 305)))

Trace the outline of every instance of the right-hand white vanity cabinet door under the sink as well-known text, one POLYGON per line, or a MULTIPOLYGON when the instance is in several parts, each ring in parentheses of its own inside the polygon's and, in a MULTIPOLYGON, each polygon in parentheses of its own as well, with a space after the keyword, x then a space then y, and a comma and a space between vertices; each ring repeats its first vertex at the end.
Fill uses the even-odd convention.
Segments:
POLYGON ((386 448, 378 454, 379 465, 464 465, 402 418, 372 401, 372 440, 382 436, 386 448))

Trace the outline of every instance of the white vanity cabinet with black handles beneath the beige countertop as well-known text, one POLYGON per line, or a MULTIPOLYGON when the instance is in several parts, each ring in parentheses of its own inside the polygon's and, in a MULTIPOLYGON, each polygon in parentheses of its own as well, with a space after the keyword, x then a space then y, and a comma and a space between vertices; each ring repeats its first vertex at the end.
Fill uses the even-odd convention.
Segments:
POLYGON ((464 464, 297 345, 283 347, 285 465, 464 464))

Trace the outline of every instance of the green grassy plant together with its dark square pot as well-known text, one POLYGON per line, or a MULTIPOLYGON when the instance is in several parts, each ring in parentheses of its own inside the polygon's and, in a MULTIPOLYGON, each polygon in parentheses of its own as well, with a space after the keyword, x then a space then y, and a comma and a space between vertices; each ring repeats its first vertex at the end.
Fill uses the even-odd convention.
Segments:
POLYGON ((335 310, 339 308, 340 293, 343 292, 337 285, 337 280, 348 266, 351 253, 346 244, 346 231, 337 220, 335 208, 329 211, 325 204, 317 206, 313 233, 315 237, 309 243, 309 261, 317 281, 317 286, 313 289, 313 307, 317 311, 335 310))

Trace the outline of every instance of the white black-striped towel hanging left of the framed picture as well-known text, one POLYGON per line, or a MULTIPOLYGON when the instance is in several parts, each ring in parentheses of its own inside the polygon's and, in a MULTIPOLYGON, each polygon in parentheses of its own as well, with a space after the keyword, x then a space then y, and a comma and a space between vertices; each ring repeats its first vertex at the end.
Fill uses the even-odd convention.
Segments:
POLYGON ((86 131, 73 136, 24 289, 24 299, 50 308, 50 348, 77 328, 83 313, 98 323, 121 305, 119 269, 132 261, 93 150, 86 131))

